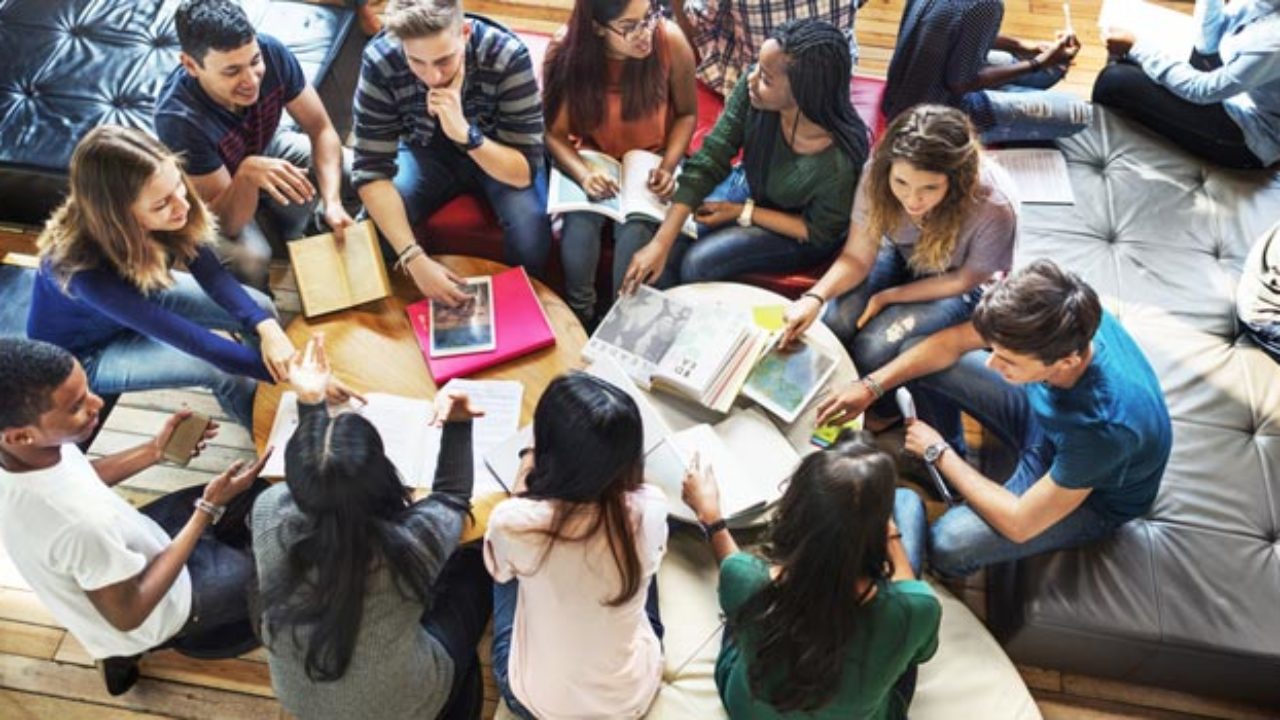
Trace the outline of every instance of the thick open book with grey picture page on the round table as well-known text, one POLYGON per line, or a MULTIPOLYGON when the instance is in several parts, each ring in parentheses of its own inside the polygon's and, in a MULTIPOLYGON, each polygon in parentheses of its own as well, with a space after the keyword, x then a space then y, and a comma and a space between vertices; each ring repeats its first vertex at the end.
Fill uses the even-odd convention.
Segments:
POLYGON ((608 356, 645 389, 728 413, 774 338, 741 309, 694 306, 641 286, 614 302, 582 356, 608 356))

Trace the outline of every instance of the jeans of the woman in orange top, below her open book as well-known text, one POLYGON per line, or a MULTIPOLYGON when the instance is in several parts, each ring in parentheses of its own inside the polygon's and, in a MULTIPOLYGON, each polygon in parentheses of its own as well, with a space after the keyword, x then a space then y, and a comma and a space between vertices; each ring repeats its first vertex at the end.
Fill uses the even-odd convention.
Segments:
MULTIPOLYGON (((564 300, 582 324, 595 318, 595 269, 600 264, 600 233, 604 215, 595 213, 566 213, 561 231, 561 264, 564 266, 564 300)), ((658 223, 653 220, 627 220, 613 223, 613 269, 611 297, 622 287, 631 256, 653 240, 658 223)))

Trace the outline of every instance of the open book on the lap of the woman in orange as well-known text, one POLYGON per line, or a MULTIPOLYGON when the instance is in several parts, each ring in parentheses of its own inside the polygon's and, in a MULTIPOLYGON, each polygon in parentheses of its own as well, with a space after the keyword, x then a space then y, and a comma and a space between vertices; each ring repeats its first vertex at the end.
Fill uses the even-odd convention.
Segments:
MULTIPOLYGON (((599 168, 609 174, 621 188, 613 197, 591 200, 573 178, 566 176, 559 168, 552 168, 550 188, 547 195, 547 213, 596 213, 617 223, 625 223, 632 218, 648 218, 660 223, 667 217, 669 202, 662 201, 649 191, 649 170, 662 164, 662 158, 648 150, 631 150, 617 161, 604 152, 594 150, 580 150, 589 165, 599 168)), ((698 225, 692 215, 685 223, 684 234, 696 238, 698 225)))

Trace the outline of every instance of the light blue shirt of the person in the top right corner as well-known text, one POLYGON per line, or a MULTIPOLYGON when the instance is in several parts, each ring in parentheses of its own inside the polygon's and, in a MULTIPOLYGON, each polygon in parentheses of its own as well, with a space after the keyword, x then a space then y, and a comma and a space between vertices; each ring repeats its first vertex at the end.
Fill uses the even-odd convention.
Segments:
POLYGON ((1129 56, 1170 92, 1198 105, 1221 102, 1244 142, 1265 164, 1280 160, 1280 3, 1197 0, 1196 49, 1222 65, 1198 70, 1184 59, 1135 42, 1129 56))

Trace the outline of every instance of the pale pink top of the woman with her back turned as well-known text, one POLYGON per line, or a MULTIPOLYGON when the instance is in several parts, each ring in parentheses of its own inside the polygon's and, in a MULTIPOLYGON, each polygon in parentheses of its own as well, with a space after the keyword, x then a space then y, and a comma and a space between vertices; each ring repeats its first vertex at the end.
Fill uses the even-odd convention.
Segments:
MULTIPOLYGON (((489 516, 485 564, 494 579, 520 580, 507 661, 511 689, 538 717, 640 717, 662 683, 662 643, 644 603, 667 552, 667 497, 643 486, 627 497, 644 580, 618 607, 621 580, 604 532, 557 541, 543 557, 554 505, 513 497, 489 516)), ((581 518, 582 521, 589 518, 581 518)), ((581 523, 571 520, 571 534, 581 523)))

